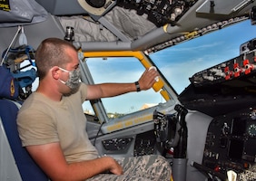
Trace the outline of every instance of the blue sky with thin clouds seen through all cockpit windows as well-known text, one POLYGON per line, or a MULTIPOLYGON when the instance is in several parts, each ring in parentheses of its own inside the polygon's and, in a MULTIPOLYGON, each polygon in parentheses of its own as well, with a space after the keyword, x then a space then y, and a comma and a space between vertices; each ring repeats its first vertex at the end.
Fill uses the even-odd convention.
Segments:
MULTIPOLYGON (((172 87, 181 93, 190 84, 189 78, 194 73, 239 56, 240 45, 253 38, 256 38, 256 25, 251 25, 251 21, 247 20, 150 56, 165 78, 171 82, 172 87)), ((126 58, 122 63, 120 60, 98 60, 88 64, 95 83, 133 82, 137 81, 144 71, 143 66, 137 62, 135 59, 126 58)), ((161 96, 153 97, 153 94, 153 90, 129 93, 128 96, 103 99, 103 105, 107 112, 129 113, 140 110, 144 103, 157 104, 162 101, 161 96)), ((87 105, 84 104, 84 110, 92 110, 87 105)))

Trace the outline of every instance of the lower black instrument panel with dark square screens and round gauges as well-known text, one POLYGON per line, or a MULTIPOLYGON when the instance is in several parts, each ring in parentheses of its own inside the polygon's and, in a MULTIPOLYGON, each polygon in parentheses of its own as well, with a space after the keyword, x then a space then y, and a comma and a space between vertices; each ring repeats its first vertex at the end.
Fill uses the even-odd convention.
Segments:
POLYGON ((256 106, 216 117, 209 126, 202 165, 238 173, 256 162, 256 106))

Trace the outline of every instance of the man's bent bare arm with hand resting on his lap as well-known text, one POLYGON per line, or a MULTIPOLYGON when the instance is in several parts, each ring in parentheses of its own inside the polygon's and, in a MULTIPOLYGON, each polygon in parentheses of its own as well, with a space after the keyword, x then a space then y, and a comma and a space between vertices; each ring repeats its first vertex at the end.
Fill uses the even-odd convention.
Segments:
POLYGON ((123 168, 112 157, 100 157, 68 164, 58 142, 27 146, 26 149, 53 181, 85 180, 106 170, 115 175, 123 174, 123 168))

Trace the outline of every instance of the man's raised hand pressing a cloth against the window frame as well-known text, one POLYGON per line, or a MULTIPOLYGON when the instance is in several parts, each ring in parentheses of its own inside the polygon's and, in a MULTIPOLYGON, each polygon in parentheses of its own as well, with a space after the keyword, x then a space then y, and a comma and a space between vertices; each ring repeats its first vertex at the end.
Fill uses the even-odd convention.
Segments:
POLYGON ((148 90, 152 88, 154 82, 156 81, 155 78, 159 76, 159 73, 156 69, 148 69, 143 72, 143 75, 139 79, 139 84, 141 90, 148 90))

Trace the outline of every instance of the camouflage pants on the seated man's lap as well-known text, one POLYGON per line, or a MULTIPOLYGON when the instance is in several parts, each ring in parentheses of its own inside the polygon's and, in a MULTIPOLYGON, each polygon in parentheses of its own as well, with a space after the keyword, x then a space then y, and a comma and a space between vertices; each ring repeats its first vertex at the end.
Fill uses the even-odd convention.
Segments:
POLYGON ((123 175, 99 174, 87 181, 170 181, 172 169, 162 156, 118 157, 123 175))

